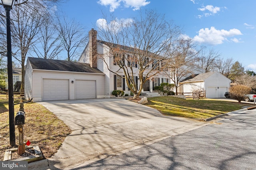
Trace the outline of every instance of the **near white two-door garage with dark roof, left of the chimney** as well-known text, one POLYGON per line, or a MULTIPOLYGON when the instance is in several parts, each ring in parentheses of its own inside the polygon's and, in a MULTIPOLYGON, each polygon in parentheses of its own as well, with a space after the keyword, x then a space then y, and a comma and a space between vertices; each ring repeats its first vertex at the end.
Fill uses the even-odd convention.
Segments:
POLYGON ((26 99, 39 102, 104 97, 104 73, 89 64, 28 57, 26 99))

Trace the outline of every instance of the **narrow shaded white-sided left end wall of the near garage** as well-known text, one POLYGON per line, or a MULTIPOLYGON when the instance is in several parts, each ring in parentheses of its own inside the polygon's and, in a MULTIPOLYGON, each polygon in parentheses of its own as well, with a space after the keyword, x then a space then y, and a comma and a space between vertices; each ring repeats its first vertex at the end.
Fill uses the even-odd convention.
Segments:
POLYGON ((26 69, 25 69, 25 85, 24 85, 24 92, 25 92, 25 99, 30 100, 32 98, 32 66, 29 61, 27 61, 26 69))

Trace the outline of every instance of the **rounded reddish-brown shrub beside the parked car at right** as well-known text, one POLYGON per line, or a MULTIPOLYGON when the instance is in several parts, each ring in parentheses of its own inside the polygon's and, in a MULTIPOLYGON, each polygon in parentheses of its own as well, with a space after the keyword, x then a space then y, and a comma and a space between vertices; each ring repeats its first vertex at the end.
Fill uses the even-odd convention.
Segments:
POLYGON ((230 87, 230 97, 236 99, 239 103, 244 100, 246 94, 249 94, 252 89, 241 84, 230 87))

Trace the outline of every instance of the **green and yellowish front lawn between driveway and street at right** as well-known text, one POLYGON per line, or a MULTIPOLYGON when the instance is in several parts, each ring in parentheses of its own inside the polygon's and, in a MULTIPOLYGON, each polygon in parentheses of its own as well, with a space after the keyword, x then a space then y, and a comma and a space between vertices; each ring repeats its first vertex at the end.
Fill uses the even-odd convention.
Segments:
POLYGON ((214 117, 230 111, 242 109, 243 106, 254 104, 238 103, 236 101, 218 101, 214 99, 180 99, 172 96, 148 98, 146 106, 160 111, 163 115, 178 115, 196 119, 214 117))

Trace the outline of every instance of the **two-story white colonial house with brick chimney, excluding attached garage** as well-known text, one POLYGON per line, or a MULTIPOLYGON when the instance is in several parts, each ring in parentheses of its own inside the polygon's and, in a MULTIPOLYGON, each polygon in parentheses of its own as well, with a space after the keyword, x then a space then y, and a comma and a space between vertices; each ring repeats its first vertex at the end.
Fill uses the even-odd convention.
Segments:
MULTIPOLYGON (((126 85, 126 81, 124 79, 123 70, 120 69, 118 64, 115 63, 114 57, 110 51, 108 42, 97 40, 97 31, 91 29, 89 31, 89 43, 84 49, 80 59, 78 62, 80 63, 90 63, 92 68, 97 68, 102 71, 105 76, 105 96, 110 96, 113 90, 123 90, 125 93, 130 94, 130 90, 126 85), (112 70, 112 72, 110 71, 112 70), (122 77, 117 76, 122 75, 122 77)), ((123 46, 123 49, 126 50, 125 55, 134 55, 132 53, 134 49, 132 47, 123 46), (130 53, 129 53, 130 52, 130 53)), ((136 57, 136 56, 134 56, 136 57)), ((138 72, 139 66, 136 62, 130 63, 129 61, 125 60, 124 64, 130 65, 132 64, 133 70, 133 78, 136 82, 137 86, 140 86, 140 81, 138 81, 138 72)), ((154 67, 154 64, 152 64, 154 67)), ((146 74, 147 72, 145 72, 146 74)), ((143 84, 144 92, 150 92, 150 90, 154 90, 155 86, 160 86, 162 82, 170 82, 168 79, 168 75, 165 73, 158 74, 153 78, 150 78, 145 84, 143 84)))

